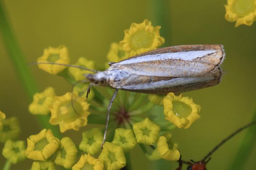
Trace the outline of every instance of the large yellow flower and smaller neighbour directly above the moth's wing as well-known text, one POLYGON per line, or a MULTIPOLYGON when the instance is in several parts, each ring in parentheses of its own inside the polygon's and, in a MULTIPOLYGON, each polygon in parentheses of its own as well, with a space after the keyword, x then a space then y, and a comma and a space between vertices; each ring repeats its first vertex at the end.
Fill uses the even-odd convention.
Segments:
POLYGON ((119 62, 129 57, 151 51, 164 43, 159 29, 154 27, 150 20, 142 23, 132 23, 130 29, 124 30, 124 39, 118 43, 111 43, 107 55, 110 62, 119 62))

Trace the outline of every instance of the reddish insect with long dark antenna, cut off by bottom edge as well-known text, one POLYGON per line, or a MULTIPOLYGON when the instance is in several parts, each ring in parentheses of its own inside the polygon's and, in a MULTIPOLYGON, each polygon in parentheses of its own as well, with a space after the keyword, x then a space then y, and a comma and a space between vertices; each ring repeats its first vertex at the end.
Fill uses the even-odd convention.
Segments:
POLYGON ((195 162, 193 160, 190 161, 183 161, 181 159, 181 156, 179 158, 179 167, 176 170, 182 170, 183 163, 189 165, 187 167, 187 170, 206 170, 206 164, 211 160, 211 155, 220 148, 225 142, 230 140, 232 137, 236 136, 239 132, 243 131, 244 129, 256 124, 256 121, 253 121, 251 123, 246 124, 245 126, 237 129, 235 132, 230 134, 228 137, 226 137, 223 141, 221 141, 218 145, 216 145, 201 161, 195 162))

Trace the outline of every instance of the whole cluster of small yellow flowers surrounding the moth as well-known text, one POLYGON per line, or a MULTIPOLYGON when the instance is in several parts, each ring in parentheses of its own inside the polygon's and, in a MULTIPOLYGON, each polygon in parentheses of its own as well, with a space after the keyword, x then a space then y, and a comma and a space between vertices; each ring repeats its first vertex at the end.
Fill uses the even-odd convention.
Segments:
MULTIPOLYGON (((124 31, 123 40, 119 43, 111 44, 107 59, 111 62, 118 62, 156 49, 165 41, 160 36, 159 30, 160 26, 152 26, 151 21, 147 19, 139 24, 132 23, 130 28, 124 31)), ((68 50, 65 46, 46 48, 43 56, 38 58, 37 61, 68 64, 68 50)), ((95 69, 95 62, 84 57, 79 58, 76 65, 95 69)), ((38 67, 54 75, 62 71, 59 75, 67 80, 75 79, 81 81, 84 80, 85 74, 91 73, 90 71, 73 67, 65 69, 66 66, 60 65, 39 64, 38 67)), ((86 102, 85 94, 82 93, 87 87, 87 84, 76 87, 74 88, 74 93, 66 93, 63 96, 56 96, 53 88, 46 88, 42 93, 35 94, 33 102, 29 105, 29 112, 44 115, 50 112, 50 124, 59 125, 62 133, 68 129, 78 131, 80 127, 87 125, 87 118, 90 115, 90 112, 88 112, 90 104, 86 102)), ((179 96, 175 96, 174 93, 169 93, 166 96, 148 95, 148 99, 154 104, 164 106, 163 116, 165 115, 165 119, 179 128, 188 128, 196 119, 200 118, 198 112, 200 112, 201 107, 193 103, 193 99, 183 97, 182 94, 179 96)), ((153 105, 152 103, 149 104, 153 105)), ((2 119, 4 119, 4 116, 0 112, 0 125, 2 119)), ((131 120, 134 121, 135 119, 131 120)), ((178 144, 173 141, 170 132, 162 134, 161 127, 163 126, 160 127, 149 118, 140 122, 138 120, 141 120, 141 118, 136 120, 136 123, 129 122, 132 124, 132 129, 115 129, 113 141, 105 142, 102 150, 103 134, 99 128, 83 132, 79 149, 86 152, 86 154, 83 154, 77 163, 78 150, 71 138, 64 137, 59 140, 54 137, 50 129, 43 129, 40 133, 29 136, 27 149, 24 153, 29 159, 35 160, 32 170, 55 170, 55 164, 66 169, 72 168, 72 170, 121 169, 126 165, 124 153, 131 151, 137 143, 140 143, 141 147, 150 145, 150 147, 155 148, 151 154, 145 151, 147 158, 150 160, 177 161, 179 159, 178 144), (101 153, 99 154, 100 151, 101 153), (99 157, 96 159, 93 156, 97 154, 99 154, 99 157)), ((6 129, 5 121, 3 121, 4 128, 0 126, 0 135, 1 131, 6 129)), ((3 141, 5 142, 6 140, 3 141)), ((14 150, 14 147, 11 147, 14 144, 11 145, 8 142, 8 146, 10 146, 8 147, 8 152, 14 150)), ((10 154, 7 154, 7 149, 5 150, 5 156, 10 157, 10 154)))

